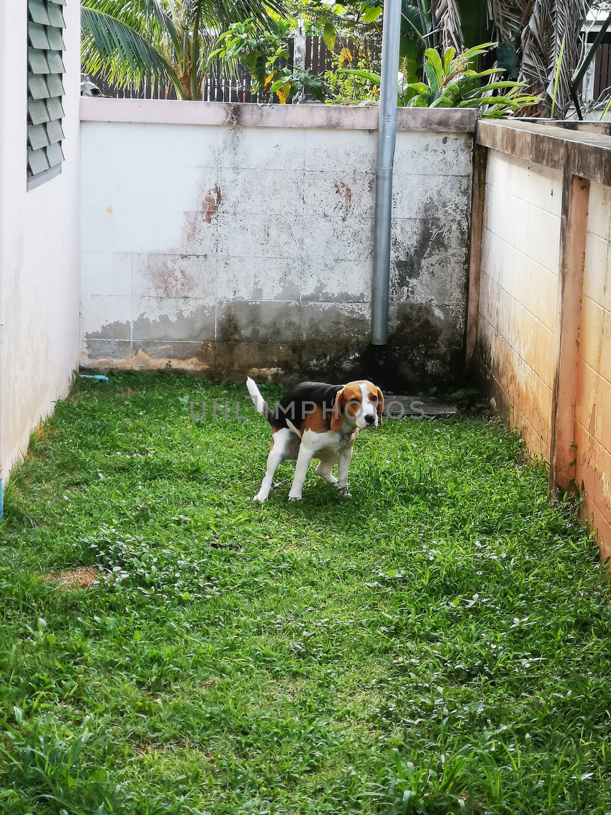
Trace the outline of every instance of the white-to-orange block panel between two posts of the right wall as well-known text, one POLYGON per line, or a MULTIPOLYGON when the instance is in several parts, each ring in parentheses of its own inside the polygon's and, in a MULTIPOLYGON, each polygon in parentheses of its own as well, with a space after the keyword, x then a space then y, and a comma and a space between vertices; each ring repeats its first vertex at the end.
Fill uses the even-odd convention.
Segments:
POLYGON ((490 150, 481 240, 479 355, 497 407, 549 457, 560 249, 560 170, 490 150))

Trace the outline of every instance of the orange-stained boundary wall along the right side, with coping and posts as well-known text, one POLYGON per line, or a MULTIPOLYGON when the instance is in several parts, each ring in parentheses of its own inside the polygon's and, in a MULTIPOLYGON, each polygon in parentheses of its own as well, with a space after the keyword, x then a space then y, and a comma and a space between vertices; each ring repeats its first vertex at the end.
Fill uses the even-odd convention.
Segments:
POLYGON ((611 555, 611 137, 480 122, 468 363, 611 555))

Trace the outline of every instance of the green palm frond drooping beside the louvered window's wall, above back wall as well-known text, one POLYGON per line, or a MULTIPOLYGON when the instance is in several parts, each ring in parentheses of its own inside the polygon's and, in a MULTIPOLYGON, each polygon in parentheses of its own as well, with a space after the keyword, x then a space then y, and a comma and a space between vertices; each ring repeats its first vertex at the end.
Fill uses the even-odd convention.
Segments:
POLYGON ((161 85, 176 85, 174 67, 145 38, 142 24, 138 20, 132 27, 99 8, 83 6, 81 61, 85 73, 103 72, 120 87, 132 82, 139 85, 148 77, 161 85))

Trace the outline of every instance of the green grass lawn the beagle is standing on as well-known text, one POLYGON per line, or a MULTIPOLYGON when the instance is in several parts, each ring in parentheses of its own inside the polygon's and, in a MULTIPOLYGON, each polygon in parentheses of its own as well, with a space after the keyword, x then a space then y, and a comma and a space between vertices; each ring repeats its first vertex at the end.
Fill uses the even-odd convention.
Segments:
POLYGON ((189 412, 244 394, 81 380, 33 437, 0 813, 609 813, 609 591, 544 469, 498 424, 385 421, 351 498, 312 467, 253 504, 266 422, 189 412), (126 576, 42 579, 92 564, 126 576))

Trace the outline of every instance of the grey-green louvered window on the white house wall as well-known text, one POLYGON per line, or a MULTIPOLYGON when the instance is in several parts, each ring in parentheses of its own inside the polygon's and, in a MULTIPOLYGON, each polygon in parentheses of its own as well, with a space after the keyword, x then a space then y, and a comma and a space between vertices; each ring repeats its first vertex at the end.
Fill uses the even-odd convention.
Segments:
POLYGON ((58 175, 62 152, 65 0, 28 0, 28 187, 58 175))

